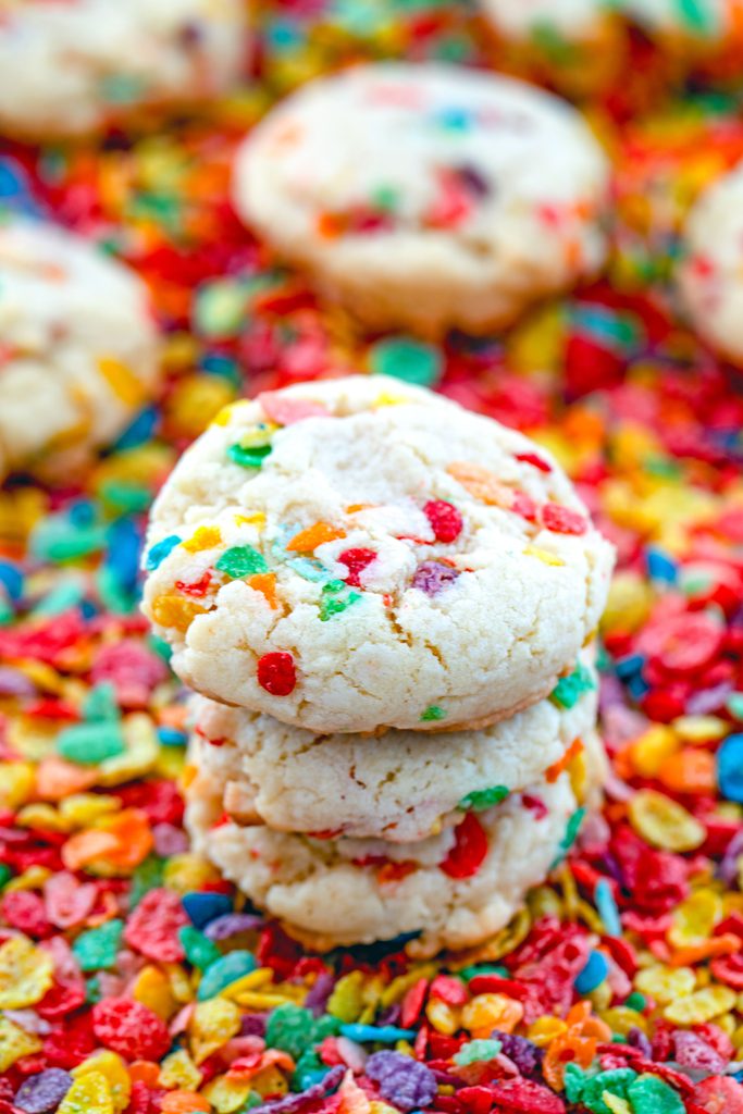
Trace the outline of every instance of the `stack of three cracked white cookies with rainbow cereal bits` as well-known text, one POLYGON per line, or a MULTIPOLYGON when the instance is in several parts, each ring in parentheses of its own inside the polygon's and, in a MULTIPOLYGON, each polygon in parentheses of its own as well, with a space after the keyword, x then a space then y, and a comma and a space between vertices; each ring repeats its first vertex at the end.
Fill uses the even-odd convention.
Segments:
POLYGON ((468 947, 566 853, 613 553, 541 448, 383 377, 262 394, 180 460, 146 565, 194 844, 303 942, 468 947))

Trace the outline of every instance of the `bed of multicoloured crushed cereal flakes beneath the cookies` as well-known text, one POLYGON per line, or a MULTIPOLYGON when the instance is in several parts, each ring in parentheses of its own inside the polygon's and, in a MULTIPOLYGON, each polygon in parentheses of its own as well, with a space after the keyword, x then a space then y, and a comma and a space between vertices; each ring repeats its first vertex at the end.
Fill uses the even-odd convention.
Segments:
POLYGON ((478 37, 421 0, 262 19, 262 80, 208 118, 0 159, 3 204, 123 254, 167 332, 159 404, 84 487, 0 494, 0 1114, 742 1112, 743 402, 667 287, 690 201, 743 155, 735 96, 589 106, 617 163, 608 280, 500 342, 364 343, 241 229, 231 153, 313 72, 478 37), (309 955, 190 853, 183 704, 137 612, 178 451, 244 390, 358 365, 548 444, 619 551, 604 815, 505 931, 436 962, 309 955))

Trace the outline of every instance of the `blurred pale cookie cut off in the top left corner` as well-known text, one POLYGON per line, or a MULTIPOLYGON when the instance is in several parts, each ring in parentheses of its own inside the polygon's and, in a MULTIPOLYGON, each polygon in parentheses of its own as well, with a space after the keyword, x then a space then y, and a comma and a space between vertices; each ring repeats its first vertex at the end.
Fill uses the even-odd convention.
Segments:
POLYGON ((79 136, 238 78, 244 0, 3 0, 0 130, 79 136))

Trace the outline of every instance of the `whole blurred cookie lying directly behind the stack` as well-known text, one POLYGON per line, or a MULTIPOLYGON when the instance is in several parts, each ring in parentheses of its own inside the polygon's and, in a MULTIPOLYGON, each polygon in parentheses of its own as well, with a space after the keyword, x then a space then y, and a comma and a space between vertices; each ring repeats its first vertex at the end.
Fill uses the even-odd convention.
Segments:
POLYGON ((304 86, 235 163, 245 222, 372 328, 483 332, 595 273, 608 164, 510 78, 381 63, 304 86))

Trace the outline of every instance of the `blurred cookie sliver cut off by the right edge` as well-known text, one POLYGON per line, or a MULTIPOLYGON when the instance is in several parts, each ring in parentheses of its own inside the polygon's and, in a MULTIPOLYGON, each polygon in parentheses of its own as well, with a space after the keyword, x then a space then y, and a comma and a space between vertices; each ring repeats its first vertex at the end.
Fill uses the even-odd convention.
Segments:
POLYGON ((743 165, 705 189, 692 207, 678 285, 697 332, 743 362, 743 165))

